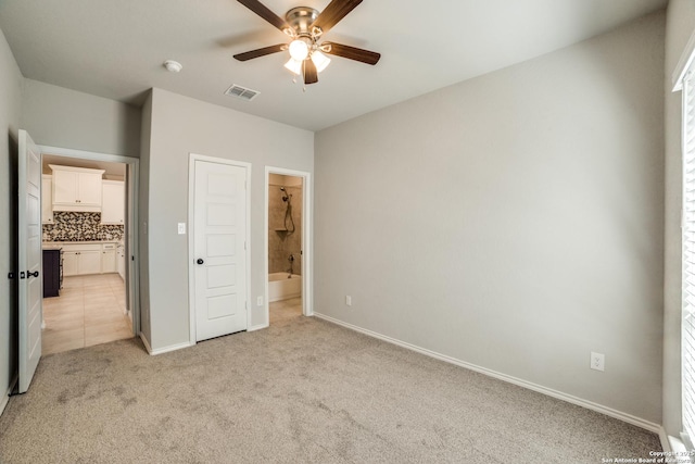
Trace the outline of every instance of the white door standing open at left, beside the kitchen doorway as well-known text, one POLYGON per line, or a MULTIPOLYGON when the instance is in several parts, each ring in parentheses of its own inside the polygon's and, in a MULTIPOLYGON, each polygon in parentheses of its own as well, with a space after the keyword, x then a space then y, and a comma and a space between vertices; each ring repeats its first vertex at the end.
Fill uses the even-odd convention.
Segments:
POLYGON ((28 390, 41 358, 41 153, 20 130, 20 393, 28 390))

